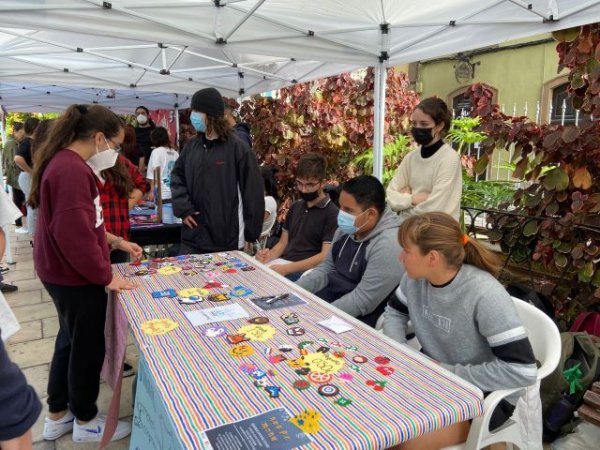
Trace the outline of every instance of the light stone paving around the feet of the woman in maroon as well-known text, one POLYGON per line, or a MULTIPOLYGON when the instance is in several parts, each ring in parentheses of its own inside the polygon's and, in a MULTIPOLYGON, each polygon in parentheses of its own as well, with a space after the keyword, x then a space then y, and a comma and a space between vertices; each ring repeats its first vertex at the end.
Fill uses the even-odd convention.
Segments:
MULTIPOLYGON (((44 410, 33 427, 35 450, 88 450, 98 448, 97 444, 75 444, 68 434, 55 442, 42 439, 44 416, 47 412, 46 387, 48 383, 48 367, 54 349, 54 339, 58 331, 58 318, 52 300, 45 291, 42 283, 33 271, 32 249, 29 238, 10 233, 13 259, 10 271, 4 275, 7 282, 19 287, 15 293, 5 294, 6 300, 21 323, 21 330, 8 341, 10 358, 21 367, 29 383, 35 388, 42 399, 44 410)), ((84 299, 82 299, 84 300, 84 299)), ((127 348, 127 359, 134 367, 137 364, 137 351, 130 342, 127 348)), ((120 415, 131 420, 131 385, 133 377, 123 380, 120 415)), ((98 407, 101 412, 108 410, 112 395, 111 389, 105 383, 100 386, 98 407)), ((112 443, 109 449, 129 448, 129 438, 112 443)))

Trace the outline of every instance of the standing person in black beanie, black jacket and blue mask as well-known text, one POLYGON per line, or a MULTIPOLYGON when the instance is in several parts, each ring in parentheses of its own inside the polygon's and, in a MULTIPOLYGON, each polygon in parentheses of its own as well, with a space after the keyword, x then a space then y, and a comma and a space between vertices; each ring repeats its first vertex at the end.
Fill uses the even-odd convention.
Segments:
POLYGON ((250 247, 260 236, 265 208, 256 157, 225 120, 219 91, 199 90, 191 106, 198 135, 171 173, 173 212, 184 223, 181 253, 250 247))

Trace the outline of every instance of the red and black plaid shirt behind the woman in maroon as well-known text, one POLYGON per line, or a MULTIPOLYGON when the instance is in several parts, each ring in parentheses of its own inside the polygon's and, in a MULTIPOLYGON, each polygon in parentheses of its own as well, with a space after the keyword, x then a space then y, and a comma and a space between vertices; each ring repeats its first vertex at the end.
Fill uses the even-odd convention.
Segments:
MULTIPOLYGON (((129 175, 133 180, 134 186, 142 192, 148 192, 150 185, 140 174, 137 167, 122 155, 119 155, 119 161, 129 169, 129 175)), ((119 197, 119 194, 109 181, 102 184, 100 180, 97 180, 96 184, 98 185, 98 192, 100 192, 100 203, 102 204, 102 214, 104 215, 106 231, 128 241, 129 199, 127 197, 119 197)))

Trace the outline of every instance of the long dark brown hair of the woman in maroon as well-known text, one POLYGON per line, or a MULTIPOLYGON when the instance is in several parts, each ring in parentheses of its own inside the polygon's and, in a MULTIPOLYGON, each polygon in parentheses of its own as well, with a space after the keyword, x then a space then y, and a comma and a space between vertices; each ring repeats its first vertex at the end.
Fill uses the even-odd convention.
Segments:
POLYGON ((72 142, 86 139, 95 132, 103 132, 107 139, 119 134, 121 119, 100 105, 71 105, 52 124, 48 137, 41 143, 33 157, 33 175, 28 203, 32 208, 40 205, 40 183, 46 167, 59 150, 72 142))

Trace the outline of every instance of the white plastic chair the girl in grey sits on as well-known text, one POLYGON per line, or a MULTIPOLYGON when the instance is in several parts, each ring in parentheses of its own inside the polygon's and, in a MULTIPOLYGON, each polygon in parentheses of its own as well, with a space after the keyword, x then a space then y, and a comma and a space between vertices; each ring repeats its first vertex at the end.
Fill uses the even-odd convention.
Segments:
MULTIPOLYGON (((560 359, 561 340, 560 332, 554 322, 541 310, 529 303, 513 297, 515 307, 523 326, 527 330, 529 342, 533 348, 535 359, 540 367, 537 372, 538 381, 550 375, 560 359)), ((467 441, 460 445, 445 447, 443 450, 480 450, 488 445, 505 442, 508 448, 527 450, 519 423, 514 420, 514 415, 499 429, 489 431, 490 419, 498 403, 511 394, 523 391, 525 388, 503 389, 489 394, 484 401, 482 416, 473 419, 467 441)))

